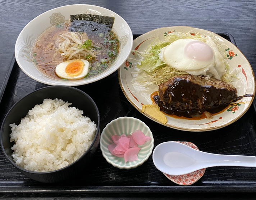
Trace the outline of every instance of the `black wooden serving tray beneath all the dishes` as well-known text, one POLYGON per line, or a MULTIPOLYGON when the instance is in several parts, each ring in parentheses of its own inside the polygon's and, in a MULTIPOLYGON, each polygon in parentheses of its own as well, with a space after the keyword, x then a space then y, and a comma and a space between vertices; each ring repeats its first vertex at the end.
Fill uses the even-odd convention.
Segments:
MULTIPOLYGON (((232 35, 228 33, 219 33, 219 35, 236 44, 232 35)), ((6 113, 15 102, 28 93, 45 86, 47 85, 24 74, 13 59, 0 91, 0 123, 3 122, 6 113)), ((205 152, 256 155, 256 112, 253 105, 243 117, 227 127, 209 132, 186 132, 162 126, 138 112, 125 98, 119 86, 118 71, 100 81, 76 88, 86 92, 97 104, 101 116, 101 129, 118 117, 135 117, 150 127, 154 136, 154 146, 165 141, 190 141, 205 152)), ((43 184, 21 174, 9 164, 3 153, 0 153, 0 196, 4 197, 61 197, 61 195, 84 197, 91 195, 97 198, 104 196, 106 199, 114 196, 118 199, 128 194, 135 199, 145 199, 146 196, 150 199, 161 199, 156 193, 164 192, 165 196, 177 197, 180 192, 217 194, 217 192, 255 191, 255 168, 211 167, 206 169, 204 176, 195 184, 180 186, 168 180, 162 172, 156 169, 152 155, 136 169, 121 170, 105 160, 100 147, 97 149, 91 167, 84 169, 83 174, 61 183, 43 184), (169 194, 170 192, 176 194, 173 196, 169 194)))

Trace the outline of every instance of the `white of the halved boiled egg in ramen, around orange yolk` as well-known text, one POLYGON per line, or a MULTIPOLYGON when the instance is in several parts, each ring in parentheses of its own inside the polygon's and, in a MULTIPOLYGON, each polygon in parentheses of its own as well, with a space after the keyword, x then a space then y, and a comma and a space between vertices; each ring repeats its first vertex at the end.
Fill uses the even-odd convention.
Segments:
POLYGON ((88 70, 89 70, 89 62, 87 60, 84 59, 73 59, 73 60, 67 60, 63 63, 60 63, 56 66, 55 68, 55 72, 56 74, 60 77, 60 78, 64 78, 64 79, 70 79, 70 80, 77 80, 77 79, 81 79, 84 78, 87 74, 88 74, 88 70), (83 70, 81 72, 81 74, 77 75, 77 76, 70 76, 65 72, 65 69, 67 67, 67 65, 69 63, 72 63, 75 60, 81 60, 84 63, 83 66, 83 70))

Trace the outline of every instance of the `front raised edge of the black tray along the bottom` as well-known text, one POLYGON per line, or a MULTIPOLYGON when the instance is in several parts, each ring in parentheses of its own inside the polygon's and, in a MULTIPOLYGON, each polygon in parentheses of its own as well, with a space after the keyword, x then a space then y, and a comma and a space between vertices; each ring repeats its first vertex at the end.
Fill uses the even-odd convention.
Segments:
POLYGON ((118 186, 118 190, 115 186, 84 186, 76 187, 70 186, 69 189, 63 189, 61 186, 48 187, 36 187, 36 186, 24 186, 24 187, 13 187, 0 186, 0 194, 3 193, 52 193, 58 192, 59 194, 77 194, 77 193, 180 193, 180 192, 255 192, 255 184, 245 184, 245 185, 217 185, 212 186, 118 186))

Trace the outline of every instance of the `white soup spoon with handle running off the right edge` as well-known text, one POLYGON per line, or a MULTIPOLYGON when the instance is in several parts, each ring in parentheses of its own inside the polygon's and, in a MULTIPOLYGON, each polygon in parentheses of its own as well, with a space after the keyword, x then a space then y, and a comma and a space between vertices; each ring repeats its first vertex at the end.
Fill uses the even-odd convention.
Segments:
POLYGON ((206 153, 178 142, 157 145, 153 162, 157 169, 169 175, 183 175, 214 166, 256 167, 255 156, 206 153))

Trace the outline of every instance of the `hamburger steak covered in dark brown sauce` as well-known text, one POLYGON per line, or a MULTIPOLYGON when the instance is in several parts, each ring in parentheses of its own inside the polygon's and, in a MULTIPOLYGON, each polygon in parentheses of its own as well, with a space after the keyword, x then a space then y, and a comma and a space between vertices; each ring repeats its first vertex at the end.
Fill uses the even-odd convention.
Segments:
POLYGON ((179 75, 159 85, 154 101, 161 111, 184 117, 196 117, 204 111, 217 113, 237 98, 237 89, 213 77, 179 75))

